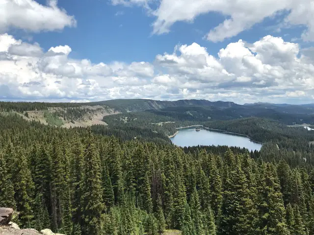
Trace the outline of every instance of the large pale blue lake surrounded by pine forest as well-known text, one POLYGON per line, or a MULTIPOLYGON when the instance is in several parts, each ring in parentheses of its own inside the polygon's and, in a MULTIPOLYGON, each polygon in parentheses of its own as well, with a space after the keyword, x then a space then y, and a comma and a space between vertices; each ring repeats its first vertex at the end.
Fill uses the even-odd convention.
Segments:
POLYGON ((210 131, 201 129, 195 131, 193 129, 180 129, 177 135, 170 140, 181 147, 197 146, 197 145, 227 145, 247 148, 251 150, 260 150, 262 144, 251 141, 244 136, 226 134, 223 132, 210 131))

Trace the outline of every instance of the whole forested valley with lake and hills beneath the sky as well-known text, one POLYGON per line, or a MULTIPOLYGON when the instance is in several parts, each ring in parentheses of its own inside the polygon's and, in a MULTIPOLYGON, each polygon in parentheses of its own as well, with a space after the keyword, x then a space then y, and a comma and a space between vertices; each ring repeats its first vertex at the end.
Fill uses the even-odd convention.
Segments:
POLYGON ((312 234, 313 109, 0 102, 0 207, 21 229, 66 235, 271 234, 276 221, 312 234))

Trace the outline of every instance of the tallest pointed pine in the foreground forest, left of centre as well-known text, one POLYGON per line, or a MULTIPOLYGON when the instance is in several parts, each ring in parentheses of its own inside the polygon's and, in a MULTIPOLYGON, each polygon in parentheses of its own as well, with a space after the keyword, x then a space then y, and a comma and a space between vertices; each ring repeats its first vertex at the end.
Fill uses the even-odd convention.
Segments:
POLYGON ((83 157, 83 178, 81 182, 81 204, 83 233, 88 235, 101 235, 102 223, 102 183, 100 157, 94 140, 89 134, 83 157))

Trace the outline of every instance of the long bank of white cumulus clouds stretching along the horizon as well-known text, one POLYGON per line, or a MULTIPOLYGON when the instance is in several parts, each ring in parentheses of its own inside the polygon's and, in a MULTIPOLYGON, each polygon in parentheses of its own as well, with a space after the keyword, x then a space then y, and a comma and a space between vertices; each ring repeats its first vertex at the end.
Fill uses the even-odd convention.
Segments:
POLYGON ((196 43, 156 55, 154 63, 95 64, 71 58, 71 47, 44 51, 0 35, 0 98, 79 102, 114 98, 314 102, 313 48, 265 36, 242 40, 217 55, 196 43))

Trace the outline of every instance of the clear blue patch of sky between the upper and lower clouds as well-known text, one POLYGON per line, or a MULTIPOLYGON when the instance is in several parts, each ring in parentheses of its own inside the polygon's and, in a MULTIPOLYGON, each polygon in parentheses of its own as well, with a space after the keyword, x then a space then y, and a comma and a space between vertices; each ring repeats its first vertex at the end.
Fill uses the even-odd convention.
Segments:
MULTIPOLYGON (((46 0, 37 0, 46 4, 46 0)), ((193 23, 177 22, 171 32, 151 35, 155 20, 140 6, 125 7, 112 5, 106 0, 59 0, 58 6, 75 16, 77 27, 65 27, 62 31, 32 33, 13 29, 18 38, 32 36, 41 47, 70 45, 72 57, 90 58, 94 63, 109 63, 113 60, 131 63, 132 61, 154 61, 157 54, 171 53, 177 44, 190 45, 196 42, 216 55, 219 49, 230 42, 245 39, 253 43, 265 35, 283 37, 285 41, 300 36, 304 27, 282 29, 276 32, 278 20, 282 16, 266 18, 262 23, 243 31, 231 39, 213 43, 203 39, 209 29, 223 22, 227 17, 219 13, 197 16, 193 23)), ((284 14, 284 16, 287 14, 284 14)))

